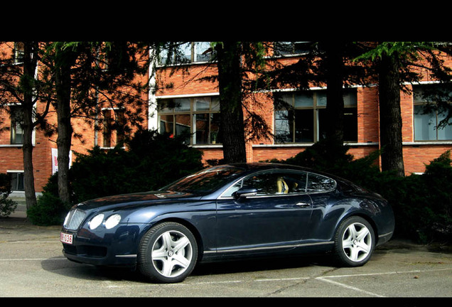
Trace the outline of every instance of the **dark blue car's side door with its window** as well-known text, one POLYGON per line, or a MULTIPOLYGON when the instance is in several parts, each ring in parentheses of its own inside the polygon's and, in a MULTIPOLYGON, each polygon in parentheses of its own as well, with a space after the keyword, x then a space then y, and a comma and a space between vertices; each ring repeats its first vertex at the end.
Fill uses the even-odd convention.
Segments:
POLYGON ((217 251, 291 249, 306 235, 311 198, 306 173, 264 171, 244 178, 217 200, 217 251), (255 195, 237 196, 240 189, 255 195))

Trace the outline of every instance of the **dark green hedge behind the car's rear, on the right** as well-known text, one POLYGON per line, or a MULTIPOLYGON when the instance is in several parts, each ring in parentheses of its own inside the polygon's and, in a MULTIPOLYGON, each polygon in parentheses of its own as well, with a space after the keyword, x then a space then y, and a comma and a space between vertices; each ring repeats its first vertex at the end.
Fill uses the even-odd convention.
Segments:
POLYGON ((394 210, 394 237, 413 239, 420 243, 451 242, 450 151, 426 165, 424 174, 405 177, 395 176, 391 172, 380 172, 375 163, 379 154, 379 151, 375 151, 365 158, 353 159, 353 156, 348 154, 348 147, 324 141, 314 144, 294 158, 279 162, 332 173, 379 193, 389 201, 394 210), (328 152, 334 152, 335 155, 328 156, 328 152))

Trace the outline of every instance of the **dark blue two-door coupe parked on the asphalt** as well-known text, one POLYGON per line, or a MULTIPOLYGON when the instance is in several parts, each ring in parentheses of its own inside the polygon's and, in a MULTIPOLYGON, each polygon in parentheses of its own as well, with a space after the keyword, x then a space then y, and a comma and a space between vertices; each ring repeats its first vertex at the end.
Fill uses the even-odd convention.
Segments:
POLYGON ((340 265, 361 266, 393 231, 380 195, 305 168, 247 163, 75 205, 60 240, 72 261, 171 283, 198 262, 237 257, 333 252, 340 265))

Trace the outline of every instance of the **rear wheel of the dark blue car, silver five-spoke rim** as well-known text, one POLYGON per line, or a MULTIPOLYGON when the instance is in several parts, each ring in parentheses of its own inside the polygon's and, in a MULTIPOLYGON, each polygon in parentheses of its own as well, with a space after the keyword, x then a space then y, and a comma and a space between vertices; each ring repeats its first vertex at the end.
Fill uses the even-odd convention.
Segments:
POLYGON ((335 235, 335 259, 340 266, 362 266, 374 248, 374 230, 365 219, 349 217, 340 223, 335 235))

